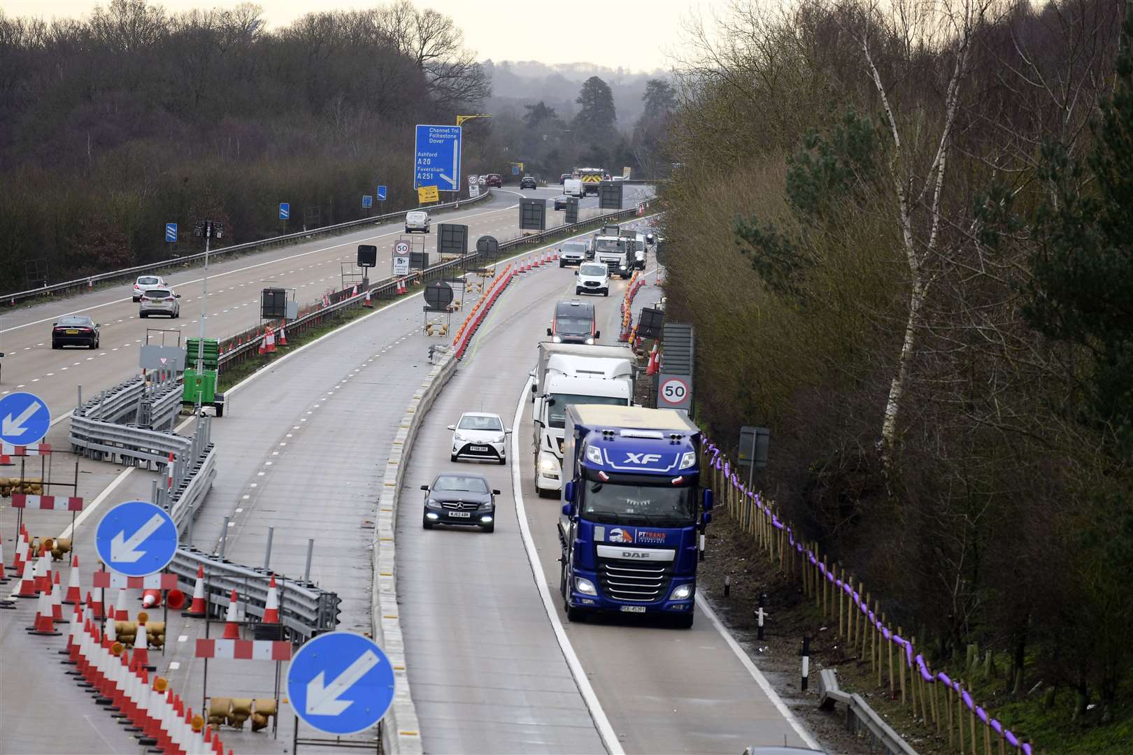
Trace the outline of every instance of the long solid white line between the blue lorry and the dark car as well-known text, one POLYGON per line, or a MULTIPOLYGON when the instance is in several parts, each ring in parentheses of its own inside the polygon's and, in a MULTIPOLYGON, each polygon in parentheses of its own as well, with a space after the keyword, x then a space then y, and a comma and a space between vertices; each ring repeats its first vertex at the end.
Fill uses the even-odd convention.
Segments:
POLYGON ((559 641, 559 649, 562 651, 563 658, 566 659, 570 674, 574 677, 574 684, 578 685, 578 690, 582 695, 582 702, 586 703, 587 710, 590 711, 594 728, 598 730, 602 744, 606 746, 606 752, 610 755, 624 755, 625 750, 622 749, 622 743, 617 741, 617 733, 610 723, 610 719, 606 718, 606 712, 602 710, 602 702, 598 700, 597 693, 594 692, 594 687, 586 676, 582 661, 579 660, 578 654, 574 652, 574 646, 571 645, 570 637, 566 636, 566 630, 559 619, 559 612, 551 600, 551 591, 547 590, 547 581, 543 574, 543 564, 539 561, 539 554, 535 550, 535 540, 531 538, 531 531, 527 526, 527 512, 523 508, 523 486, 519 474, 519 423, 523 418, 523 406, 527 405, 527 396, 531 392, 531 384, 534 381, 535 378, 528 378, 527 383, 523 384, 523 389, 519 394, 519 404, 516 406, 516 419, 511 422, 511 486, 516 498, 516 518, 519 521, 519 532, 523 538, 523 550, 527 551, 527 560, 531 567, 531 576, 535 577, 535 586, 538 587, 539 598, 543 599, 543 608, 547 612, 547 618, 551 619, 551 626, 555 630, 555 640, 559 641))

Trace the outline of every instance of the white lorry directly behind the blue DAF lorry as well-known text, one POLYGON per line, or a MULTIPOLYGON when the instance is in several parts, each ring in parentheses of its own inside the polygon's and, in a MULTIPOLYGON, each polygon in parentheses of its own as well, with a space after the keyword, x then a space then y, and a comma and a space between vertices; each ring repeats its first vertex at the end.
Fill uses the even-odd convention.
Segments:
POLYGON ((629 346, 543 342, 531 377, 535 490, 551 496, 562 489, 568 404, 632 405, 633 352, 629 346))

